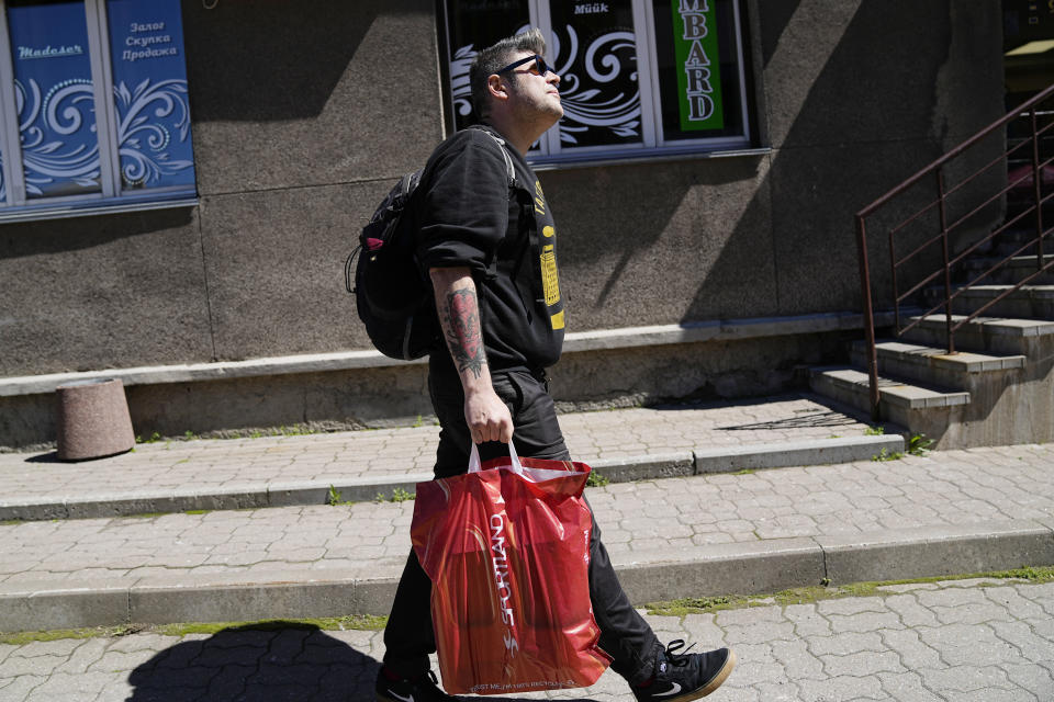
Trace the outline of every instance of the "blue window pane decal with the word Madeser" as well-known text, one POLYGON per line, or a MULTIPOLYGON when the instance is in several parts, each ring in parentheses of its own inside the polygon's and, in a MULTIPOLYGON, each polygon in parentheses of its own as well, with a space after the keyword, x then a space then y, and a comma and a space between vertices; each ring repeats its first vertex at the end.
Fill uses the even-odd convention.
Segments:
POLYGON ((26 196, 100 192, 85 3, 11 2, 8 27, 26 196))

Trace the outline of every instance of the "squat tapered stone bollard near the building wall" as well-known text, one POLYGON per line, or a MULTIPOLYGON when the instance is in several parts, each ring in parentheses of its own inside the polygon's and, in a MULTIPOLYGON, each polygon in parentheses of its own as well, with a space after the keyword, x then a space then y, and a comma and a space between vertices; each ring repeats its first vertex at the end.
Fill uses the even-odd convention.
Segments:
POLYGON ((57 394, 59 460, 102 458, 135 445, 121 381, 77 381, 60 385, 57 394))

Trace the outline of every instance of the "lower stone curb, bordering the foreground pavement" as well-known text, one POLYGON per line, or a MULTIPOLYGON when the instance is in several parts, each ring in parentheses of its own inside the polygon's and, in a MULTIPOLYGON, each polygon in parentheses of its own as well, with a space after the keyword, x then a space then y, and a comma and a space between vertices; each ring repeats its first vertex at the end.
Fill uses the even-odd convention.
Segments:
MULTIPOLYGON (((774 539, 613 557, 635 604, 1054 564, 1032 520, 774 539)), ((388 614, 403 564, 356 569, 0 584, 0 631, 388 614)))

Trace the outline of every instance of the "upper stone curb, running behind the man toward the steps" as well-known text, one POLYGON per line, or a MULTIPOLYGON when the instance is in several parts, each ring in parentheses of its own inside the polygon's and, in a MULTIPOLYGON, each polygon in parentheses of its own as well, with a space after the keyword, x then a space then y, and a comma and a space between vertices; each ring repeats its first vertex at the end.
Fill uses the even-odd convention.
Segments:
MULTIPOLYGON (((652 480, 742 469, 783 468, 870 461, 904 451, 898 434, 841 437, 784 443, 759 443, 720 449, 696 449, 661 454, 602 458, 591 466, 612 483, 652 480)), ((329 488, 341 501, 368 502, 396 489, 413 492, 431 473, 411 473, 393 478, 346 480, 271 482, 245 487, 214 488, 208 492, 181 488, 169 491, 144 489, 121 494, 70 497, 65 500, 0 501, 0 521, 98 519, 133 514, 173 513, 197 510, 260 509, 298 505, 326 505, 329 488)))

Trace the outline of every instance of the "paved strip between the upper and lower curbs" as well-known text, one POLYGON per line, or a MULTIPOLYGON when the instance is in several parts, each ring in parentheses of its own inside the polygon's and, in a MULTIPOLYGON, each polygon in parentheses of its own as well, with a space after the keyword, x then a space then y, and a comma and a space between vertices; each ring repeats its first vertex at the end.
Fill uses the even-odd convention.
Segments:
MULTIPOLYGON (((613 562, 715 544, 1035 520, 1054 528, 1054 445, 586 488, 613 562)), ((413 501, 0 524, 0 585, 369 569, 397 576, 413 501)), ((1016 563, 1047 565, 1045 563, 1016 563)), ((1007 566, 1009 567, 1009 566, 1007 566)), ((987 568, 986 568, 987 569, 987 568)), ((0 588, 2 589, 2 588, 0 588)))

